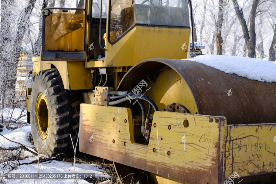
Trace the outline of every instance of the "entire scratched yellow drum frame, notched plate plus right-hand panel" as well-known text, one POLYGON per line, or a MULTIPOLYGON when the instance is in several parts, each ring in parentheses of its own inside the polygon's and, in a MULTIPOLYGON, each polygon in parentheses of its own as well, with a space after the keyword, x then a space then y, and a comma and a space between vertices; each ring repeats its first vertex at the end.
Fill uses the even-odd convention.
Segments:
MULTIPOLYGON (((81 152, 173 178, 176 183, 222 183, 234 171, 240 177, 275 171, 276 123, 226 126, 223 117, 220 123, 215 123, 215 117, 210 123, 210 116, 157 111, 147 146, 134 140, 137 125, 129 108, 81 104, 82 115, 81 152), (195 175, 204 179, 195 182, 195 175)), ((162 183, 164 178, 159 180, 162 183)))

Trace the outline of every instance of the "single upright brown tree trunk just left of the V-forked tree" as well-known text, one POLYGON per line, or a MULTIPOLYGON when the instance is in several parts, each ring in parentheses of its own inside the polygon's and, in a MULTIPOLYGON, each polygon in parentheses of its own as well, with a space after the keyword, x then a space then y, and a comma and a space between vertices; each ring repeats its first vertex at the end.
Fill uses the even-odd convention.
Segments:
POLYGON ((221 36, 221 30, 222 30, 222 23, 223 23, 223 5, 224 0, 219 0, 219 11, 218 11, 218 17, 217 17, 217 25, 216 25, 216 39, 217 39, 217 55, 222 55, 222 36, 221 36))

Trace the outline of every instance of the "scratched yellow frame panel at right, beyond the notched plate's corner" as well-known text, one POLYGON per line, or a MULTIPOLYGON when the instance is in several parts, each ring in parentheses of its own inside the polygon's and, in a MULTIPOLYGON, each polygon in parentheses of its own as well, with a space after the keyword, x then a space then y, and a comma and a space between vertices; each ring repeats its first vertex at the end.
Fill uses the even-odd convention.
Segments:
POLYGON ((227 125, 225 176, 234 171, 249 176, 276 171, 276 123, 227 125))

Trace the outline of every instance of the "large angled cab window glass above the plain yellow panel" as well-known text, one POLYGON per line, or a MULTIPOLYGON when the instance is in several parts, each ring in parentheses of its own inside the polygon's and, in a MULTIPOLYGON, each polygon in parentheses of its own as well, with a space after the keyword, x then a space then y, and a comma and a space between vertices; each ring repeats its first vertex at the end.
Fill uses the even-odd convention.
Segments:
POLYGON ((111 0, 110 41, 134 24, 190 26, 187 0, 111 0))

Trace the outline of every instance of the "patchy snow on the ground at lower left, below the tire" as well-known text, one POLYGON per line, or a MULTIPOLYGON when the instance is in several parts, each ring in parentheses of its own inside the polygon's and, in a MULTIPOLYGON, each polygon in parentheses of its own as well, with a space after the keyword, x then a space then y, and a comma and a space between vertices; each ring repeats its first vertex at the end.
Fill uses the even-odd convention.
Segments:
MULTIPOLYGON (((21 109, 15 109, 14 111, 14 116, 13 118, 18 118, 19 115, 21 114, 21 109)), ((8 117, 9 113, 5 114, 5 117, 8 117)), ((23 121, 26 121, 26 119, 23 121)), ((8 130, 5 126, 4 128, 2 128, 2 132, 0 132, 0 134, 2 134, 3 136, 5 136, 7 139, 10 139, 14 142, 18 142, 21 144, 24 144, 26 146, 28 146, 27 148, 29 150, 31 150, 32 152, 36 151, 32 148, 35 148, 35 146, 29 142, 28 136, 31 133, 31 125, 27 125, 21 128, 17 128, 14 130, 8 130), (32 147, 32 148, 29 148, 32 147)), ((14 143, 12 141, 7 140, 6 138, 4 138, 3 136, 0 136, 0 147, 1 148, 16 148, 19 147, 20 145, 17 143, 14 143)), ((29 152, 28 150, 23 150, 23 160, 15 160, 15 161, 8 161, 8 165, 7 162, 4 161, 5 158, 5 154, 9 154, 11 152, 16 152, 16 150, 14 151, 4 151, 1 152, 0 150, 0 180, 2 179, 2 175, 3 173, 7 173, 7 172, 12 172, 12 173, 70 173, 72 174, 72 172, 74 172, 74 166, 72 163, 67 163, 67 162, 63 162, 63 161, 56 161, 56 160, 50 160, 47 162, 43 162, 43 163, 32 163, 32 164, 26 164, 26 165, 19 165, 18 162, 20 164, 22 163, 31 163, 35 160, 38 159, 37 155, 33 155, 33 153, 29 152), (2 155, 1 155, 2 154, 2 155)), ((39 157, 44 156, 47 158, 47 156, 45 155, 41 155, 39 154, 39 157)), ((84 164, 84 163, 76 163, 75 164, 75 173, 95 173, 96 178, 111 178, 111 176, 109 174, 106 174, 101 168, 101 165, 96 165, 96 164, 84 164)), ((1 182, 0 182, 1 183, 1 182)), ((8 184, 17 184, 17 183, 35 183, 35 184, 69 184, 69 183, 74 183, 74 180, 13 180, 13 179, 5 179, 3 178, 2 183, 8 184)), ((89 183, 84 179, 80 179, 78 180, 76 183, 79 184, 85 184, 85 183, 89 183)), ((107 182, 103 182, 103 183, 107 183, 107 182)))

